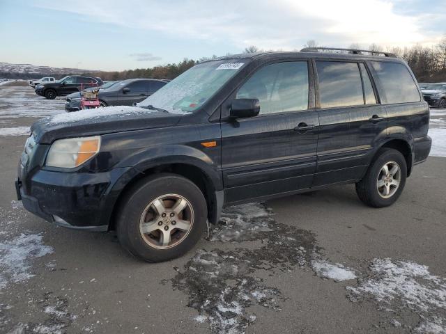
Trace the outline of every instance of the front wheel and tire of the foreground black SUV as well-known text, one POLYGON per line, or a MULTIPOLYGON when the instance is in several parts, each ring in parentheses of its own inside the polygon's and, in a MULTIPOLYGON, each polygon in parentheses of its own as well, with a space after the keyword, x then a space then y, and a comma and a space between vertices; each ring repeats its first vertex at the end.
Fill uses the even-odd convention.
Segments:
POLYGON ((118 213, 121 245, 147 262, 187 253, 206 230, 206 200, 190 180, 162 173, 141 180, 125 195, 118 213))

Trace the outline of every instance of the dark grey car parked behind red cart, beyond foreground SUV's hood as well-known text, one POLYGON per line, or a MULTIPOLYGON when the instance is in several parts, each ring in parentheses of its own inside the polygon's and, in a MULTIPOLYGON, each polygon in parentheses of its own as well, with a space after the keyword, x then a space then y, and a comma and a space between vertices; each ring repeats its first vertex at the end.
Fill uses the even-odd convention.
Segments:
MULTIPOLYGON (((106 89, 100 89, 98 98, 101 106, 131 106, 134 103, 146 99, 146 97, 155 93, 165 84, 167 84, 167 82, 156 79, 123 80, 106 89)), ((78 93, 75 93, 75 95, 68 95, 66 100, 66 111, 79 110, 80 95, 78 95, 78 93), (75 97, 79 100, 73 100, 75 97), (68 101, 68 99, 70 100, 68 101)))

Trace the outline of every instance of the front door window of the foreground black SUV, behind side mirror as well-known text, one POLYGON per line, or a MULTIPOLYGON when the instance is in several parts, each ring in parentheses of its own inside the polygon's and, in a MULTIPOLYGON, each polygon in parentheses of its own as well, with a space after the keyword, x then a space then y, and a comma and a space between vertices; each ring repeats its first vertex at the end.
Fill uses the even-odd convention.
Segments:
POLYGON ((240 87, 237 98, 259 99, 261 114, 306 110, 308 64, 290 61, 262 67, 240 87))

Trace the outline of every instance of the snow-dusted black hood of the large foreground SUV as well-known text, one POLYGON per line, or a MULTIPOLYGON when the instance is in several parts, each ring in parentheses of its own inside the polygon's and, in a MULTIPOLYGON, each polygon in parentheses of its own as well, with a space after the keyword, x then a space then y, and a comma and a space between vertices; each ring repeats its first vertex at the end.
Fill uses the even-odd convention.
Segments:
POLYGON ((134 106, 109 106, 86 109, 38 120, 31 126, 37 143, 50 144, 56 139, 95 136, 138 129, 169 127, 181 115, 134 106))

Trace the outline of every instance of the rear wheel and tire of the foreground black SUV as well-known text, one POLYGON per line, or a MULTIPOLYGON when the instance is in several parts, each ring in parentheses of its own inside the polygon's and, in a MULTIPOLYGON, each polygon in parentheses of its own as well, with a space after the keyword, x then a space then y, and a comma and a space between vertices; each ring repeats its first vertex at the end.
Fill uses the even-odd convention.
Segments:
POLYGON ((364 178, 357 182, 357 196, 371 207, 388 207, 401 195, 407 178, 407 164, 401 152, 382 148, 364 178))

